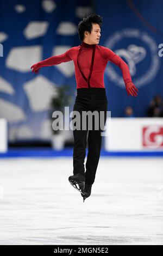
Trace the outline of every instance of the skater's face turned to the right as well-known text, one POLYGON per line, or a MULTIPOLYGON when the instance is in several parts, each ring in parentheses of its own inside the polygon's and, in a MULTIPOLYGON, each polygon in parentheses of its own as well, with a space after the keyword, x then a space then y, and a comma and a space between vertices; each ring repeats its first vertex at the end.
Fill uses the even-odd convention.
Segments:
POLYGON ((97 23, 92 23, 92 31, 89 33, 88 31, 84 32, 85 42, 87 44, 99 44, 99 38, 101 36, 101 28, 97 23))

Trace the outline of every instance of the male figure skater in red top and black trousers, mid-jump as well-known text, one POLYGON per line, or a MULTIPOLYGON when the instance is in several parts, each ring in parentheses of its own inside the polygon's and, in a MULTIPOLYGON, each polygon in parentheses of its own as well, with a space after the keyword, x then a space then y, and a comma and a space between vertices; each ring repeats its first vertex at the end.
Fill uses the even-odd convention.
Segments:
MULTIPOLYGON (((78 34, 82 44, 70 48, 59 56, 53 56, 38 62, 32 65, 31 68, 37 74, 43 66, 57 65, 73 60, 77 82, 77 97, 73 111, 78 111, 80 114, 83 111, 104 111, 106 120, 108 100, 105 94, 103 77, 108 61, 119 66, 122 70, 128 95, 137 96, 138 90, 131 80, 128 65, 109 48, 98 45, 102 23, 102 17, 97 14, 85 17, 78 25, 78 34)), ((92 129, 89 131, 87 129, 73 130, 73 175, 68 180, 74 188, 80 191, 83 201, 90 196, 91 187, 95 181, 101 151, 101 131, 100 128, 99 130, 92 129), (88 154, 85 172, 86 139, 88 154)))

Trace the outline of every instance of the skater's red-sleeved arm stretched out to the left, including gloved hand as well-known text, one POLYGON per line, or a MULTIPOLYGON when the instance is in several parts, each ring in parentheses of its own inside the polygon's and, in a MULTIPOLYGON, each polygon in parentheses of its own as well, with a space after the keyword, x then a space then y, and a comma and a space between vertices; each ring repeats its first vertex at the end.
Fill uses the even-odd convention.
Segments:
POLYGON ((58 65, 62 62, 70 62, 72 59, 68 55, 69 50, 67 50, 65 53, 62 53, 58 56, 52 56, 48 59, 42 60, 41 62, 37 62, 33 64, 30 67, 31 69, 33 69, 32 72, 35 72, 35 74, 37 74, 39 72, 39 69, 42 68, 43 66, 53 66, 53 65, 58 65))

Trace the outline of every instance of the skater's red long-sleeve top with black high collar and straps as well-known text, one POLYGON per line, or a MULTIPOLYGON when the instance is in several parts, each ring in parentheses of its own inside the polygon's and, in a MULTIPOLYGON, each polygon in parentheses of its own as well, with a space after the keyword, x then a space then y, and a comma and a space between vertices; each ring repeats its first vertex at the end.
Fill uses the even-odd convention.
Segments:
POLYGON ((58 56, 53 56, 39 62, 42 66, 57 65, 73 60, 77 88, 105 88, 104 71, 108 61, 122 70, 124 83, 132 82, 128 65, 109 48, 101 45, 89 45, 84 41, 58 56))

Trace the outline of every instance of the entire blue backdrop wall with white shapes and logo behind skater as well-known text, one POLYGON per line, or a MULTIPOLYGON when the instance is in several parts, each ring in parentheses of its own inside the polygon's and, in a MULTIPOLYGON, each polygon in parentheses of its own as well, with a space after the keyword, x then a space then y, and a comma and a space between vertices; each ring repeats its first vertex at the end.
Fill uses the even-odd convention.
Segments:
POLYGON ((10 141, 50 137, 51 98, 63 84, 76 95, 74 66, 62 63, 43 68, 38 75, 30 66, 79 45, 78 22, 92 11, 103 16, 100 45, 128 63, 139 89, 138 97, 128 97, 121 70, 108 63, 104 77, 108 110, 112 117, 122 117, 130 105, 137 117, 146 116, 152 97, 163 97, 163 58, 158 55, 163 43, 162 10, 161 0, 1 0, 0 118, 9 121, 10 141))

